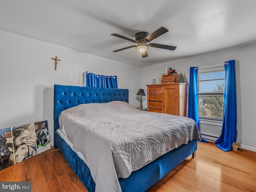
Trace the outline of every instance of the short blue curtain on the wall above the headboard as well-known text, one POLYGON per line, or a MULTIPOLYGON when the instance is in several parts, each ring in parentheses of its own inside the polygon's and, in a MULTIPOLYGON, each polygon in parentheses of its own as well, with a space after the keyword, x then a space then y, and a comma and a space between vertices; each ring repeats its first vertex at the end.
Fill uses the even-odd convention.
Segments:
POLYGON ((86 87, 118 88, 117 76, 96 75, 86 72, 86 87))

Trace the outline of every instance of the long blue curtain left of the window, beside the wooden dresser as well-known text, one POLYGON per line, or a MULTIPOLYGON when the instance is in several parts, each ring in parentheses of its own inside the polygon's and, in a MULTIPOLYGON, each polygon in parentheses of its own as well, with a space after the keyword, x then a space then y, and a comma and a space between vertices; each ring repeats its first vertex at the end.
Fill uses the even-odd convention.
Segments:
MULTIPOLYGON (((198 69, 190 67, 189 94, 188 94, 188 117, 192 118, 199 130, 198 118, 198 69)), ((202 138, 201 142, 208 143, 202 138)))

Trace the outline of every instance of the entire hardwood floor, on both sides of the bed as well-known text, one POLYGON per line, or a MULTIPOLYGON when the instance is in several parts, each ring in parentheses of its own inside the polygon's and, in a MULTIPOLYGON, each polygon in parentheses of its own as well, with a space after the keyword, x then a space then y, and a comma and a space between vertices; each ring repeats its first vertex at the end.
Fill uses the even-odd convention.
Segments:
MULTIPOLYGON (((51 148, 0 171, 0 181, 31 181, 32 192, 87 192, 60 151, 51 148), (55 162, 55 164, 53 164, 55 162)), ((256 152, 224 152, 198 143, 186 158, 148 192, 256 192, 256 152)))

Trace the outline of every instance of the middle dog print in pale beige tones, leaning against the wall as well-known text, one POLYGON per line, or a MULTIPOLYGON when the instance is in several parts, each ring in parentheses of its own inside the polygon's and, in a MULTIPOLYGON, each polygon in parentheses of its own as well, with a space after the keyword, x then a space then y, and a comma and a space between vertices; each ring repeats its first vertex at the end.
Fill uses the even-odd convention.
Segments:
POLYGON ((12 127, 15 163, 37 154, 34 123, 12 127))

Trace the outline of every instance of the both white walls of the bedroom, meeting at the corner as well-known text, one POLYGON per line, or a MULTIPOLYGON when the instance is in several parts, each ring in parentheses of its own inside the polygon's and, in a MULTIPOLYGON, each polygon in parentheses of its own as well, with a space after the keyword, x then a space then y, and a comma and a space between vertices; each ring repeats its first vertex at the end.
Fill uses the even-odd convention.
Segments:
MULTIPOLYGON (((52 142, 53 85, 82 86, 82 72, 85 71, 117 75, 118 88, 129 89, 129 103, 138 107, 140 97, 136 97, 136 93, 139 88, 143 88, 146 92, 146 84, 152 84, 153 79, 159 83, 159 77, 166 68, 175 68, 178 74, 182 72, 186 82, 188 82, 190 66, 207 66, 233 59, 236 60, 237 142, 242 144, 242 148, 256 151, 256 128, 254 124, 256 44, 141 69, 138 66, 116 62, 1 30, 0 42, 0 128, 48 120, 52 142), (54 70, 54 61, 51 59, 55 56, 61 60, 58 62, 57 70, 54 70)), ((142 97, 142 102, 143 107, 146 107, 146 96, 142 97)), ((211 132, 211 134, 214 133, 211 132)), ((216 134, 220 134, 219 129, 216 134)))

